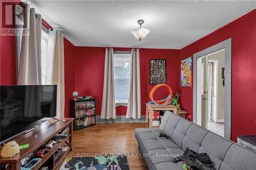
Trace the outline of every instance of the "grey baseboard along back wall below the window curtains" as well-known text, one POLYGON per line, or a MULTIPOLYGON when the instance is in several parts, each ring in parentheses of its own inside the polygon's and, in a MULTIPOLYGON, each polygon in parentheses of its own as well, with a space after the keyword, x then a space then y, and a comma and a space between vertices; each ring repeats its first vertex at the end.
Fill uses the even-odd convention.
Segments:
POLYGON ((145 123, 145 115, 142 115, 141 118, 126 118, 123 116, 116 116, 116 119, 102 119, 100 115, 96 115, 96 123, 145 123))

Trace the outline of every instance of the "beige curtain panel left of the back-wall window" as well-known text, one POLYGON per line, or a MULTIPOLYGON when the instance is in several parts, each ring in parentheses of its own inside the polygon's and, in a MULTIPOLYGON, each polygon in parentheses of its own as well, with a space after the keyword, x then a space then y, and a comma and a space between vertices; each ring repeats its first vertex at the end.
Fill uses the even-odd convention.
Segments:
POLYGON ((116 118, 113 48, 105 50, 104 86, 100 118, 116 118))

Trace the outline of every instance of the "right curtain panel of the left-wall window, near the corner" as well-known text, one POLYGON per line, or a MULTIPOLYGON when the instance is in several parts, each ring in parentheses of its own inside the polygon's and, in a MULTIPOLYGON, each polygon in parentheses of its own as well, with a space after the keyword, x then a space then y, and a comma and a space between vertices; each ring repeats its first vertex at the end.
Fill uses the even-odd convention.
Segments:
POLYGON ((64 117, 65 80, 63 34, 60 34, 60 31, 55 29, 49 29, 45 84, 57 85, 56 114, 57 117, 64 117))

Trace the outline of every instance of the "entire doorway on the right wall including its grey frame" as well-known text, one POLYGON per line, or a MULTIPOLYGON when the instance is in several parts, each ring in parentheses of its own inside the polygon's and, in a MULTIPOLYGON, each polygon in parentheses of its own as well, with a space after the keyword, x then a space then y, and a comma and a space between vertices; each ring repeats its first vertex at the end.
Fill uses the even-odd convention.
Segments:
POLYGON ((230 139, 231 39, 194 54, 193 59, 194 123, 230 139))

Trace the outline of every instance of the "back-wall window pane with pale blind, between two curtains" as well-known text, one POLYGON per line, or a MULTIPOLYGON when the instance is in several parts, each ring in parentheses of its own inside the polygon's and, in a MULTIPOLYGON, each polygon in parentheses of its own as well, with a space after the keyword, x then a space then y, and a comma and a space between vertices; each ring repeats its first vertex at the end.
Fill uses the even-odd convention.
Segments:
POLYGON ((116 103, 128 101, 131 54, 114 54, 114 78, 116 103))

